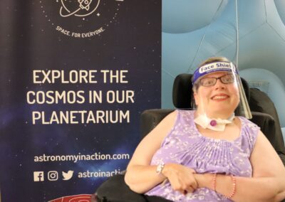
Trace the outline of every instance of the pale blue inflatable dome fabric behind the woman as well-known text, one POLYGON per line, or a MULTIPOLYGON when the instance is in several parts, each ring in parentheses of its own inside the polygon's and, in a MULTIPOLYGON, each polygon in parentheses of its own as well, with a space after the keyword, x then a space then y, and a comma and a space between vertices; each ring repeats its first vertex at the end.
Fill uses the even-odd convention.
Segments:
MULTIPOLYGON (((239 70, 268 70, 284 91, 284 22, 282 0, 162 0, 162 108, 173 107, 170 89, 176 75, 193 73, 212 56, 229 58, 239 70)), ((269 93, 274 103, 279 93, 285 92, 269 93)), ((276 108, 285 127, 285 109, 276 108)))

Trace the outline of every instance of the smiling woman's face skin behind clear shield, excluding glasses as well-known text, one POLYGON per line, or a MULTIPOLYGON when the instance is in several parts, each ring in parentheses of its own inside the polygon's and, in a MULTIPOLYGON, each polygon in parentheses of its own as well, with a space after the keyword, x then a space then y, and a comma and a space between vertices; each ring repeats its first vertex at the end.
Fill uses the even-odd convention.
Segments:
MULTIPOLYGON (((217 72, 205 75, 203 78, 220 78, 227 72, 217 72)), ((237 83, 224 84, 220 79, 212 86, 199 85, 194 92, 197 111, 206 113, 208 117, 227 119, 239 105, 239 89, 237 83)))

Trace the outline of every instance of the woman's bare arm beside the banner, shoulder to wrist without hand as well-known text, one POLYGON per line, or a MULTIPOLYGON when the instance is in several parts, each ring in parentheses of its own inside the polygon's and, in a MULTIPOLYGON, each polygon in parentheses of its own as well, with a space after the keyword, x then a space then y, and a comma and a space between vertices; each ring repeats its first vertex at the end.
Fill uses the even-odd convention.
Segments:
POLYGON ((157 124, 155 129, 152 129, 142 139, 137 149, 135 149, 125 174, 125 182, 133 191, 145 193, 166 179, 162 174, 157 174, 157 166, 150 166, 150 161, 155 151, 160 148, 162 140, 172 129, 176 116, 176 111, 167 115, 165 119, 157 124))

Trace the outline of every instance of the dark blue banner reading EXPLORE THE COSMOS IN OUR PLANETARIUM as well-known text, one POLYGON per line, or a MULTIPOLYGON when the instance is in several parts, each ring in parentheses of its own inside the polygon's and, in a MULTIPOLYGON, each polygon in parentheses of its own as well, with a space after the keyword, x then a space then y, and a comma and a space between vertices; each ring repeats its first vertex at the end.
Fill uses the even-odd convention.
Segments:
POLYGON ((0 201, 90 198, 160 108, 161 1, 0 4, 0 201))

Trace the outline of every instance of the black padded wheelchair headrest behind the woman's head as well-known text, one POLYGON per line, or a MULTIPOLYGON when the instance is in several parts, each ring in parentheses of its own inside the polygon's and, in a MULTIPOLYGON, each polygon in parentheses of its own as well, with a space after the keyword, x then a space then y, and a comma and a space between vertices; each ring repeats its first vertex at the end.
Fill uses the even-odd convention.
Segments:
MULTIPOLYGON (((174 80, 172 90, 172 102, 173 105, 178 109, 189 109, 192 108, 194 100, 192 99, 192 74, 180 74, 174 80)), ((249 102, 250 89, 246 80, 242 78, 242 86, 244 87, 245 95, 249 102)))

